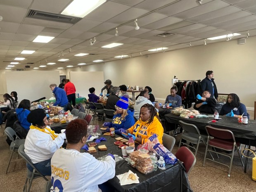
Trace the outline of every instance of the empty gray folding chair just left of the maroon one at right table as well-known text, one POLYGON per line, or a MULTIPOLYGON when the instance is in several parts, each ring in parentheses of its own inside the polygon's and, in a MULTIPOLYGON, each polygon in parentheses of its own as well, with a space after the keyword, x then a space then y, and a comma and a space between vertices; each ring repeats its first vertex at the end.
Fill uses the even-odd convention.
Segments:
MULTIPOLYGON (((179 143, 179 148, 180 144, 182 143, 183 145, 186 145, 187 147, 191 147, 195 149, 195 154, 194 156, 197 156, 197 150, 199 147, 199 143, 204 143, 206 146, 206 141, 207 141, 207 136, 206 135, 201 135, 197 126, 190 124, 190 123, 185 123, 183 121, 179 121, 181 128, 183 128, 182 135, 180 137, 180 143, 179 143), (182 140, 186 140, 193 145, 188 145, 186 142, 182 142, 182 140), (196 147, 194 147, 196 145, 196 147)), ((211 155, 211 153, 210 153, 211 155)), ((213 156, 211 155, 212 159, 213 156)))

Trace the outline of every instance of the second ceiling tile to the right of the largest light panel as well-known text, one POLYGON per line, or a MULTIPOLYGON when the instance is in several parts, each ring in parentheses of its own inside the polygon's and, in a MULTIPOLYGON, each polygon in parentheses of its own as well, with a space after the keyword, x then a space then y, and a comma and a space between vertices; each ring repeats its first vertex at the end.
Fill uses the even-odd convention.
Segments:
POLYGON ((114 24, 120 24, 120 23, 126 23, 131 20, 135 20, 138 17, 148 13, 149 11, 145 9, 139 9, 136 7, 132 7, 125 12, 122 12, 121 14, 117 15, 116 17, 113 17, 112 19, 109 19, 107 22, 114 23, 114 24))

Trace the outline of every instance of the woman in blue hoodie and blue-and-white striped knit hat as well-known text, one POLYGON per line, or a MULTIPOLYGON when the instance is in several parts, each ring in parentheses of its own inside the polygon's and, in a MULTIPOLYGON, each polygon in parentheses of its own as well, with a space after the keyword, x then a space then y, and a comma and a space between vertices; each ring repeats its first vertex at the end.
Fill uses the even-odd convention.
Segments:
MULTIPOLYGON (((128 97, 128 95, 124 95, 116 102, 116 112, 114 113, 113 121, 103 124, 105 127, 114 127, 116 134, 120 134, 119 129, 122 128, 126 130, 135 124, 133 118, 134 112, 128 109, 128 97)), ((107 128, 106 131, 109 131, 109 128, 107 128)))

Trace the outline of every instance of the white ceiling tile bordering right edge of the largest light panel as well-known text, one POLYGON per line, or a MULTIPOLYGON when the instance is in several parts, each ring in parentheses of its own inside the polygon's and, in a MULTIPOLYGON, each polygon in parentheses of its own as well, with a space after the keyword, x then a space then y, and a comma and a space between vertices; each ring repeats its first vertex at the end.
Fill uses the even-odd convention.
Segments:
POLYGON ((86 19, 93 19, 96 21, 107 21, 112 17, 130 9, 131 7, 128 5, 123 5, 117 2, 108 1, 104 5, 97 8, 95 11, 91 12, 90 14, 86 15, 86 19))

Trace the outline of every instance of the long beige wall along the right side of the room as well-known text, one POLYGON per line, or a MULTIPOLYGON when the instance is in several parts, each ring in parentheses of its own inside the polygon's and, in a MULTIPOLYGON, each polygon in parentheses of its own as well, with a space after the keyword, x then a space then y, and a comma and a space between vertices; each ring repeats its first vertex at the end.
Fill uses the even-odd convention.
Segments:
POLYGON ((104 79, 111 79, 113 85, 148 85, 156 98, 165 99, 174 76, 180 80, 202 80, 206 71, 213 70, 218 92, 234 92, 250 108, 256 100, 255 45, 256 37, 248 38, 244 45, 231 40, 152 54, 149 59, 140 56, 81 66, 67 69, 66 75, 69 71, 104 71, 104 79))

